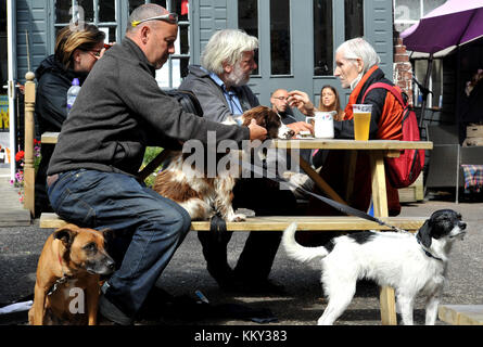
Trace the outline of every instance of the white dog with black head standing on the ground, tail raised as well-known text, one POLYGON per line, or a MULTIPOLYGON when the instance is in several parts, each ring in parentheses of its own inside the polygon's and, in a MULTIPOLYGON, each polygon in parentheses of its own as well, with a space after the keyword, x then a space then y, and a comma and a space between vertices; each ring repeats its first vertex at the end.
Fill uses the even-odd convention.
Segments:
POLYGON ((416 295, 427 297, 425 324, 436 321, 437 305, 445 281, 448 255, 456 239, 462 239, 467 224, 452 209, 432 214, 415 235, 364 231, 332 239, 320 247, 305 247, 295 239, 296 223, 282 239, 288 255, 298 261, 321 258, 323 291, 328 306, 319 325, 332 324, 351 304, 360 279, 392 286, 403 323, 412 324, 416 295))

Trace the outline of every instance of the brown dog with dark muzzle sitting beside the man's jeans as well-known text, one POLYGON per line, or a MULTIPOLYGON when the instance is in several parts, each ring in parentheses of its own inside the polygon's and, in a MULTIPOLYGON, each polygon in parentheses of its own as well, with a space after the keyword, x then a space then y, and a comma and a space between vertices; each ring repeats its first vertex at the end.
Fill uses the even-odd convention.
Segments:
POLYGON ((37 266, 31 325, 96 325, 100 274, 114 271, 114 260, 104 249, 104 233, 66 224, 43 245, 37 266))

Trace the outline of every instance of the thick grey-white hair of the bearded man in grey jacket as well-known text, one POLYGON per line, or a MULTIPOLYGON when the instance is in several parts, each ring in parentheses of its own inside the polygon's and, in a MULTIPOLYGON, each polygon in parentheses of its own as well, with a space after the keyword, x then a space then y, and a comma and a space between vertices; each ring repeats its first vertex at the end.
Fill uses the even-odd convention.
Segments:
POLYGON ((243 52, 258 49, 258 39, 239 29, 224 29, 216 31, 201 54, 201 66, 208 72, 220 75, 224 73, 223 63, 236 65, 243 52))

